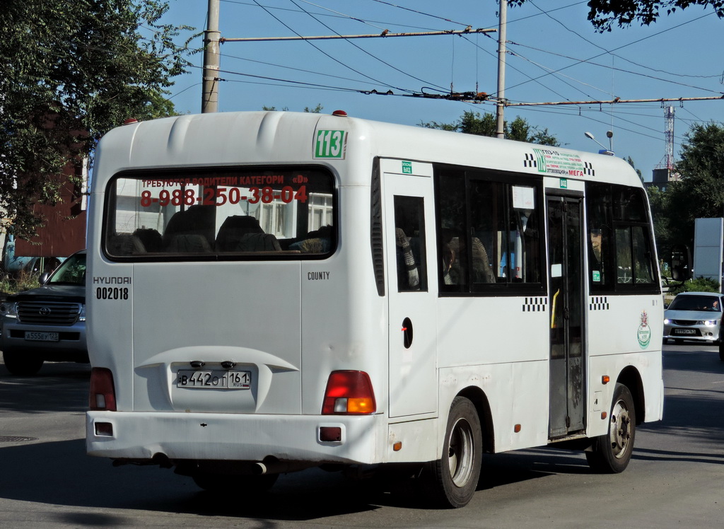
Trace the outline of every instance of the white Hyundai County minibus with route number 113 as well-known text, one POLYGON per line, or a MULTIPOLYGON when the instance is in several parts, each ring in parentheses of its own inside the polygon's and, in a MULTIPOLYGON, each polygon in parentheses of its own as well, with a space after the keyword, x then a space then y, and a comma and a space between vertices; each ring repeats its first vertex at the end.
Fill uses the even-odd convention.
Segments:
POLYGON ((462 507, 483 453, 620 472, 662 417, 651 216, 621 159, 228 112, 112 130, 91 193, 92 456, 247 492, 405 465, 462 507))

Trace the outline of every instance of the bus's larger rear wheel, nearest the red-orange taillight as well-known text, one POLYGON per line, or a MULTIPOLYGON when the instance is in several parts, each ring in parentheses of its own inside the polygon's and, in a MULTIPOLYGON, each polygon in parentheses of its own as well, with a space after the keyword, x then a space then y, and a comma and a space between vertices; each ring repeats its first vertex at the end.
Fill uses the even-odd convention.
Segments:
POLYGON ((465 507, 478 486, 482 458, 478 412, 465 397, 455 397, 447 416, 442 458, 426 463, 426 496, 436 507, 465 507))

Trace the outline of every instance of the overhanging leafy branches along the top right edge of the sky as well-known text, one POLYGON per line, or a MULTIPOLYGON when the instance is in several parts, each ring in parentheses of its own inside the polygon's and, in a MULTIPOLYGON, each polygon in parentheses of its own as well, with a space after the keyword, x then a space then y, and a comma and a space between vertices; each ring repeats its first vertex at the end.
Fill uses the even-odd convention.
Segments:
MULTIPOLYGON (((511 6, 520 6, 527 0, 510 0, 511 6)), ((620 28, 640 22, 649 25, 660 17, 662 11, 672 14, 676 9, 690 6, 711 7, 717 17, 724 18, 724 0, 589 0, 588 20, 597 31, 610 31, 617 23, 620 28)))

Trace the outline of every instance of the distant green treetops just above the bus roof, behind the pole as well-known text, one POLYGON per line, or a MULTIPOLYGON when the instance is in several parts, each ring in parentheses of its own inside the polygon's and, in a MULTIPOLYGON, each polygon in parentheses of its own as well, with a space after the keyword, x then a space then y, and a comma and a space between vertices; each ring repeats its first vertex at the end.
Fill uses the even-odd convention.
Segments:
MULTIPOLYGON (((476 134, 477 136, 496 136, 497 123, 493 114, 480 114, 466 110, 458 121, 452 123, 438 123, 436 121, 422 122, 421 127, 437 128, 440 130, 450 130, 452 132, 461 132, 466 134, 476 134)), ((539 143, 540 145, 550 145, 552 147, 560 147, 560 142, 548 133, 548 129, 539 130, 529 124, 525 119, 518 116, 513 122, 505 122, 503 125, 505 137, 509 140, 527 141, 529 143, 539 143)))

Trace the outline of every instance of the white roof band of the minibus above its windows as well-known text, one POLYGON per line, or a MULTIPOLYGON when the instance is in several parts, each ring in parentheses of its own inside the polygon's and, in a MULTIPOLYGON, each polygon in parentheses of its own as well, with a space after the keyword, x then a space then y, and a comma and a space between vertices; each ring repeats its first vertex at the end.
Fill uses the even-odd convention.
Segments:
MULTIPOLYGON (((186 114, 111 130, 98 146, 96 185, 120 170, 259 163, 349 162, 374 157, 641 186, 616 157, 355 117, 305 112, 186 114), (344 133, 341 157, 317 157, 317 133, 344 133), (98 180, 100 177, 100 180, 98 180)), ((347 182, 345 182, 347 183, 347 182)))

